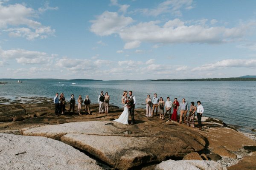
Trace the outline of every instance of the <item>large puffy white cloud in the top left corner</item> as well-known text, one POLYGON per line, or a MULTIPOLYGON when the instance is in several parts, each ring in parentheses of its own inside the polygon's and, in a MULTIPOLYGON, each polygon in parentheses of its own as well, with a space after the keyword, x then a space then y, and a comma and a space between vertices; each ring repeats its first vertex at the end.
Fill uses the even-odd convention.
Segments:
MULTIPOLYGON (((48 9, 45 9, 50 8, 48 6, 48 9)), ((34 40, 54 35, 55 30, 50 26, 43 26, 40 22, 31 19, 35 17, 38 17, 38 11, 24 4, 0 3, 0 30, 8 32, 10 37, 25 37, 27 40, 34 40)))

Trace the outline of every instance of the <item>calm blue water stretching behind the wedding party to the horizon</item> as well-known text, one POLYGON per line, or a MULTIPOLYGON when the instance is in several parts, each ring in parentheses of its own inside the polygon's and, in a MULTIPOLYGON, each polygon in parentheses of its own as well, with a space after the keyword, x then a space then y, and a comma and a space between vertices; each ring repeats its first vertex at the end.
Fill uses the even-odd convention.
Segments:
POLYGON ((20 96, 55 96, 64 93, 66 99, 70 94, 79 94, 84 98, 89 95, 93 103, 97 102, 100 91, 107 91, 111 97, 110 103, 121 107, 122 92, 133 91, 137 100, 137 108, 145 108, 147 94, 151 97, 156 92, 166 100, 175 97, 180 102, 185 98, 187 102, 200 100, 205 109, 205 116, 215 117, 227 124, 241 126, 240 130, 253 133, 256 128, 256 81, 195 81, 195 82, 152 82, 152 81, 70 81, 70 80, 4 80, 11 84, 0 85, 0 97, 9 99, 20 96), (59 81, 64 85, 60 85, 59 81), (77 83, 72 85, 72 83, 77 83))

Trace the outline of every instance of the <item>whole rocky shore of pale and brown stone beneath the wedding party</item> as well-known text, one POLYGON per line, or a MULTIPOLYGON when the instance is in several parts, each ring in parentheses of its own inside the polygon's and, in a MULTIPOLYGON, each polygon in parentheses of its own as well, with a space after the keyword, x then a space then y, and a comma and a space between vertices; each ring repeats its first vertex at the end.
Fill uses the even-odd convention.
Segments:
POLYGON ((98 113, 97 104, 92 115, 55 116, 52 99, 0 102, 12 102, 0 105, 3 169, 256 169, 255 135, 218 119, 203 117, 199 131, 136 109, 136 124, 122 125, 113 122, 122 113, 113 105, 108 116, 98 113))

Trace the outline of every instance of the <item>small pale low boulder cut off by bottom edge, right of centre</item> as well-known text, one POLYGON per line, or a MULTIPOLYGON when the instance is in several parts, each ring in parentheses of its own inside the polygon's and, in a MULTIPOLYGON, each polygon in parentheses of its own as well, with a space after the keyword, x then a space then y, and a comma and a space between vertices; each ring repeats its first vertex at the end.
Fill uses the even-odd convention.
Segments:
POLYGON ((227 170, 215 161, 200 160, 168 160, 155 167, 155 170, 227 170))

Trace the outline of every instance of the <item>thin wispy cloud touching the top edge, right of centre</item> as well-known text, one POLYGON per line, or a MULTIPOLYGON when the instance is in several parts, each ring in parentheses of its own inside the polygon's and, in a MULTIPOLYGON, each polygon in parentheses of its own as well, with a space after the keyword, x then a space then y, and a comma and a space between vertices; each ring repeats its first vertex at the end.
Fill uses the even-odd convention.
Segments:
POLYGON ((144 15, 154 17, 157 17, 160 14, 173 14, 181 16, 181 9, 192 9, 192 3, 193 0, 166 0, 163 3, 160 3, 156 8, 139 8, 134 10, 132 13, 142 13, 144 15))

